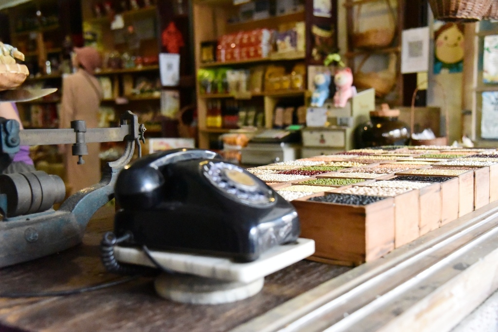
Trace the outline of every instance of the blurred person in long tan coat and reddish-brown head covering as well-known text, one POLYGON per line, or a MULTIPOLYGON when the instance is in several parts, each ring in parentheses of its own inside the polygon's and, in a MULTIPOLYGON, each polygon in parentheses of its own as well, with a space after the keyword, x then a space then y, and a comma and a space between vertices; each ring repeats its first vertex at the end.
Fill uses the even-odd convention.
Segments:
MULTIPOLYGON (((94 74, 102 66, 102 58, 96 49, 82 47, 74 49, 72 61, 76 72, 62 82, 59 127, 71 128, 71 121, 84 120, 87 129, 96 128, 102 88, 94 74)), ((72 155, 70 144, 62 147, 69 195, 100 181, 100 144, 87 143, 87 146, 88 155, 83 156, 82 165, 77 164, 78 156, 72 155)))

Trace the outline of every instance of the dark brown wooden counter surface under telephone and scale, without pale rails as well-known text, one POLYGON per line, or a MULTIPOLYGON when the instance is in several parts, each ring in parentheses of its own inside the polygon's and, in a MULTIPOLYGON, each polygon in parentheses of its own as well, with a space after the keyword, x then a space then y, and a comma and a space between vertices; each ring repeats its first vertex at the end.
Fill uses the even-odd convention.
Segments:
MULTIPOLYGON (((73 289, 121 278, 100 261, 99 243, 112 227, 112 214, 99 211, 82 245, 0 269, 0 292, 73 289)), ((2 326, 23 331, 228 331, 350 269, 303 260, 266 277, 259 294, 214 306, 161 299, 151 278, 78 295, 0 298, 0 331, 2 326)))

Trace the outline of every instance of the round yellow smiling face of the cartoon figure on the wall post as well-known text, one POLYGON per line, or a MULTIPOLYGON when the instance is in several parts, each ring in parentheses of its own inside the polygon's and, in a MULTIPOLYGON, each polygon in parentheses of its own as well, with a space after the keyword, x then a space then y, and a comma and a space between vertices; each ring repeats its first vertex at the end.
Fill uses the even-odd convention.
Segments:
POLYGON ((454 23, 443 25, 435 34, 436 58, 445 64, 455 64, 464 58, 463 29, 454 23))

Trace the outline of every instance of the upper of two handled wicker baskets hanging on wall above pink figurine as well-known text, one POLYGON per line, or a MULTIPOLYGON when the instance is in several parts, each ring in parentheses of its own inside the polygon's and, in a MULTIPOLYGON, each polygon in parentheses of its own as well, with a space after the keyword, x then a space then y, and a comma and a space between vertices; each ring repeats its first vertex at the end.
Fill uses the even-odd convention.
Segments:
MULTIPOLYGON (((387 3, 387 9, 389 11, 390 25, 385 28, 370 29, 364 32, 359 32, 359 31, 353 32, 352 43, 354 48, 367 48, 367 49, 382 48, 382 47, 387 47, 392 43, 396 30, 396 22, 395 22, 396 14, 394 13, 394 9, 392 9, 389 0, 385 0, 385 2, 387 3)), ((359 16, 361 8, 362 5, 359 4, 357 11, 358 16, 356 18, 357 22, 360 20, 359 16)), ((356 24, 355 26, 358 26, 358 24, 356 24)))

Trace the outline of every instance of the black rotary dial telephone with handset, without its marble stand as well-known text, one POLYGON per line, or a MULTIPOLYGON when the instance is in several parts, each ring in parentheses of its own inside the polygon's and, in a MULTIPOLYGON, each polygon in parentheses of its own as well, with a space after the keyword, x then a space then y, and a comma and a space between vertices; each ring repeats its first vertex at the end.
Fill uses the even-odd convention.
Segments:
POLYGON ((118 176, 118 237, 129 245, 252 261, 295 242, 293 206, 244 168, 211 151, 177 149, 137 160, 118 176))

